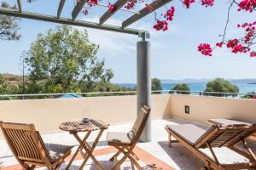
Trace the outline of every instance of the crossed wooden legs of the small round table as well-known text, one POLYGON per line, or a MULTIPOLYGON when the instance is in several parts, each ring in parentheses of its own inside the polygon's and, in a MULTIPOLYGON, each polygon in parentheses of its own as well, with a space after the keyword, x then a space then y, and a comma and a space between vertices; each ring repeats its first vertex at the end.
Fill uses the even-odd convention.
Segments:
POLYGON ((82 141, 81 139, 79 139, 79 135, 78 135, 78 134, 76 134, 76 133, 73 134, 74 137, 79 141, 80 145, 83 147, 83 149, 86 151, 86 154, 87 154, 87 155, 85 156, 84 161, 83 161, 81 167, 79 168, 79 170, 83 169, 83 167, 84 167, 85 163, 88 161, 89 157, 96 163, 96 166, 98 167, 98 169, 103 170, 103 167, 102 167, 102 165, 100 164, 100 162, 97 161, 97 160, 96 160, 96 157, 93 156, 93 154, 92 154, 93 150, 95 150, 95 148, 96 148, 96 144, 98 144, 99 139, 100 139, 101 136, 102 136, 103 131, 104 131, 104 129, 101 129, 101 130, 100 130, 100 132, 98 133, 98 135, 97 135, 97 137, 96 137, 95 142, 92 144, 91 147, 90 147, 90 144, 88 144, 88 143, 86 142, 86 140, 85 140, 85 141, 82 141))

